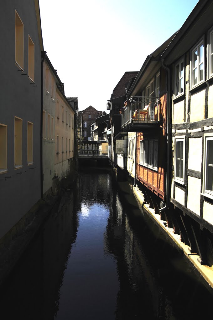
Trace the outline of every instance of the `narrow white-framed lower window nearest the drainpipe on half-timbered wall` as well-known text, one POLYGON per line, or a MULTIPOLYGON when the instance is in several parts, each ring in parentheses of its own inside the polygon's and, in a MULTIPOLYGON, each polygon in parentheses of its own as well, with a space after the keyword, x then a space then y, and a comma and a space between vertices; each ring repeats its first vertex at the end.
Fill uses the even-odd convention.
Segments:
POLYGON ((184 183, 185 136, 175 137, 175 180, 184 183))

